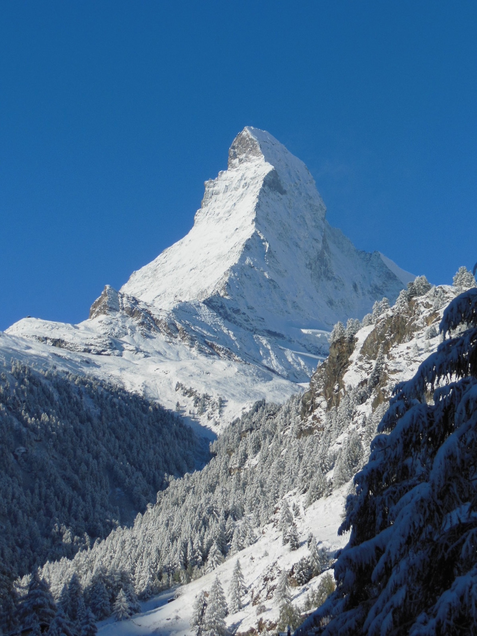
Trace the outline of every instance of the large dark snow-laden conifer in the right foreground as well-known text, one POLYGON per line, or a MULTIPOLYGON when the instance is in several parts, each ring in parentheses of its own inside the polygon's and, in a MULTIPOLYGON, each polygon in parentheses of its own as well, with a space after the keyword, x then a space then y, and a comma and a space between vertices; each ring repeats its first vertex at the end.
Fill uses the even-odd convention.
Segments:
POLYGON ((336 591, 301 635, 477 633, 477 289, 439 329, 457 335, 394 390, 347 500, 336 591))

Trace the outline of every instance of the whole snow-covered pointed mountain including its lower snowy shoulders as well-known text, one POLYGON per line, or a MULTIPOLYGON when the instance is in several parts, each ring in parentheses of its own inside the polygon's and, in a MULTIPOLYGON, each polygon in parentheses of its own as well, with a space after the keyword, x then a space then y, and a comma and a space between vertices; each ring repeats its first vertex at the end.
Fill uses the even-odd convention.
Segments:
POLYGON ((0 356, 121 382, 212 427, 256 399, 282 401, 326 357, 336 321, 413 279, 325 214, 305 165, 246 127, 184 239, 120 291, 106 286, 78 325, 17 322, 0 356))

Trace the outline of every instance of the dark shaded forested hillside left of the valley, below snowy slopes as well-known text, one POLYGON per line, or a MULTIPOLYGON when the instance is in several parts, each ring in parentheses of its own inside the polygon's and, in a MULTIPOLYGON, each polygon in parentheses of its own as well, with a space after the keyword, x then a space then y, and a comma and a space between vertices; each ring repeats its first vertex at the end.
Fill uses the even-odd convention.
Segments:
MULTIPOLYGON (((206 455, 207 453, 205 453, 206 455)), ((0 374, 0 558, 16 574, 132 523, 204 448, 179 417, 96 380, 0 374)))

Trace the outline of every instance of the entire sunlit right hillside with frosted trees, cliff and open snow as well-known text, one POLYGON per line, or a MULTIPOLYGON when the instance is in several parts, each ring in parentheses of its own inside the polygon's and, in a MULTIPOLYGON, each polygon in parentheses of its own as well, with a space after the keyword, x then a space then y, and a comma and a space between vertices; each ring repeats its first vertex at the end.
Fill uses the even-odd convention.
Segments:
POLYGON ((277 624, 284 572, 291 611, 312 609, 307 597, 315 598, 321 577, 310 578, 308 535, 331 556, 347 540, 337 530, 352 477, 368 457, 394 385, 438 347, 439 321, 459 291, 418 277, 394 307, 376 303, 363 322, 335 326, 330 356, 301 399, 281 407, 257 404, 226 427, 210 464, 174 481, 133 528, 117 530, 73 562, 48 563, 43 575, 53 593, 59 595, 74 572, 82 573, 87 599, 98 577, 117 594, 114 572, 144 597, 181 582, 179 590, 146 601, 144 613, 130 621, 100 623, 100 632, 192 634, 193 600, 211 590, 215 577, 227 590, 239 558, 249 591, 244 607, 226 617, 229 628, 247 632, 277 624), (296 550, 291 539, 282 541, 284 523, 286 531, 296 529, 296 550))

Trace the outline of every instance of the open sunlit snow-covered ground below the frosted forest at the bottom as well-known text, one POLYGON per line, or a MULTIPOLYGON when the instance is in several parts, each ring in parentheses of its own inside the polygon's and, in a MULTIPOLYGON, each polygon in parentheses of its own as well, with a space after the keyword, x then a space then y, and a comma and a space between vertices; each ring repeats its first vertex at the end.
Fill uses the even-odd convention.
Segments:
MULTIPOLYGON (((322 542, 322 547, 329 550, 330 553, 334 553, 347 543, 347 535, 338 536, 337 531, 342 522, 345 495, 348 490, 349 484, 335 490, 329 497, 319 499, 308 508, 303 508, 305 495, 296 495, 295 492, 289 493, 287 501, 290 506, 296 503, 301 509, 300 516, 294 519, 300 535, 300 548, 298 550, 291 551, 289 546, 282 545, 282 532, 277 528, 279 521, 279 513, 277 513, 272 523, 268 523, 260 529, 256 543, 228 558, 209 574, 142 603, 141 614, 135 614, 127 621, 116 622, 114 618, 101 621, 98 623, 99 635, 195 635, 197 628, 192 629, 189 624, 195 598, 201 590, 209 591, 215 578, 218 577, 228 600, 228 588, 237 558, 240 560, 240 567, 249 591, 244 597, 244 608, 236 614, 226 616, 226 625, 233 632, 246 632, 251 627, 256 628, 260 618, 265 622, 277 621, 279 604, 273 598, 273 593, 270 594, 272 598, 266 598, 267 590, 272 590, 277 584, 279 573, 282 570, 290 570, 301 557, 309 554, 308 534, 312 532, 315 538, 322 542), (267 574, 266 578, 270 577, 270 580, 264 581, 264 574, 267 574), (257 593, 260 594, 260 599, 258 603, 252 604, 251 595, 253 594, 256 598, 257 593), (257 608, 261 604, 265 605, 265 611, 258 615, 257 608)), ((293 604, 297 607, 303 605, 305 595, 318 586, 320 578, 315 577, 304 586, 291 588, 293 604)))

